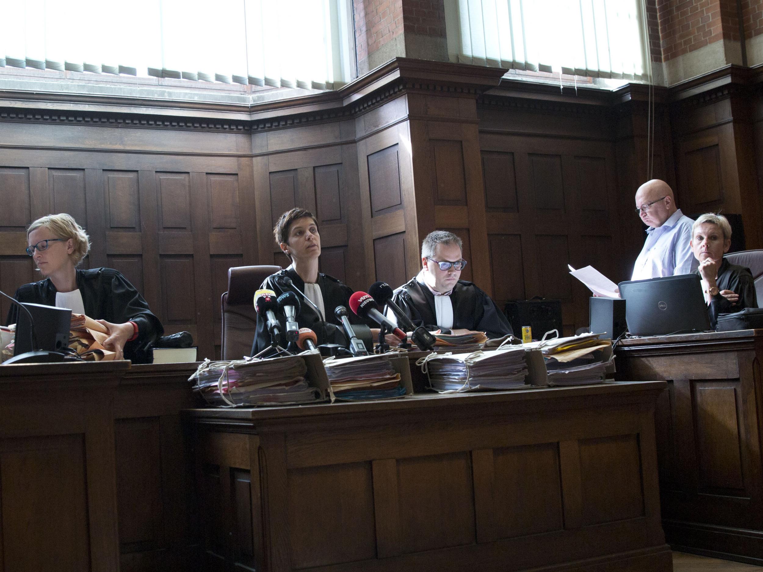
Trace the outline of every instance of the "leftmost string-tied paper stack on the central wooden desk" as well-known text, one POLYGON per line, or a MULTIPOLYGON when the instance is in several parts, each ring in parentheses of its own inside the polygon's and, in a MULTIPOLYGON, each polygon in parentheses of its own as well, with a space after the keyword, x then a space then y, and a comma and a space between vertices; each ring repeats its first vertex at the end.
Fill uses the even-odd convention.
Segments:
POLYGON ((321 400, 320 389, 306 378, 304 358, 283 358, 211 362, 204 360, 188 381, 210 405, 282 405, 321 400))

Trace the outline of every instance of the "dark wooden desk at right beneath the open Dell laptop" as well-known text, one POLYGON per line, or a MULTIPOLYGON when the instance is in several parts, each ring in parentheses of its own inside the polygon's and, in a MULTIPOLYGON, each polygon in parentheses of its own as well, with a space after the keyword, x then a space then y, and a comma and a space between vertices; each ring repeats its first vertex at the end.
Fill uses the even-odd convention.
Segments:
POLYGON ((621 343, 618 378, 668 382, 655 416, 668 542, 763 564, 763 330, 621 343))

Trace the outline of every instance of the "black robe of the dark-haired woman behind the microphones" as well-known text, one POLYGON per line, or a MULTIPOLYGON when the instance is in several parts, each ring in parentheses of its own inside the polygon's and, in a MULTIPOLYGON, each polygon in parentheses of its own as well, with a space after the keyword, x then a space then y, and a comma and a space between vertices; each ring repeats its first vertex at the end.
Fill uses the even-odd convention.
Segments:
MULTIPOLYGON (((261 290, 272 290, 275 292, 275 296, 278 297, 284 292, 293 291, 291 288, 288 288, 285 284, 281 284, 277 278, 279 276, 288 276, 291 278, 291 281, 294 282, 294 285, 299 289, 300 292, 304 292, 304 280, 299 277, 297 272, 295 271, 293 266, 289 266, 285 270, 282 270, 280 272, 276 272, 275 274, 269 275, 268 278, 265 279, 265 281, 262 282, 262 285, 259 287, 261 290)), ((353 310, 350 310, 349 308, 349 297, 353 295, 353 289, 349 288, 349 286, 346 286, 345 284, 342 284, 339 280, 336 278, 333 278, 333 276, 318 273, 318 279, 317 284, 320 287, 320 294, 322 294, 324 298, 324 309, 326 310, 326 321, 327 323, 333 324, 334 326, 337 326, 338 329, 330 328, 330 331, 327 331, 326 328, 321 327, 321 319, 318 316, 317 312, 313 309, 313 307, 310 304, 307 304, 307 302, 304 301, 304 298, 302 297, 302 294, 299 292, 295 292, 297 294, 297 297, 300 301, 300 310, 297 314, 297 323, 299 324, 300 328, 310 328, 312 329, 317 337, 318 337, 318 344, 323 343, 338 343, 340 345, 346 345, 346 337, 344 336, 344 329, 342 328, 342 323, 336 319, 336 316, 334 316, 334 310, 337 306, 344 306, 347 308, 347 312, 349 314, 349 321, 353 324, 365 324, 366 326, 376 328, 378 325, 370 320, 364 320, 361 317, 356 316, 356 314, 353 312, 353 310)), ((286 347, 286 319, 282 315, 278 314, 278 322, 281 323, 281 333, 282 333, 282 339, 279 345, 281 345, 282 348, 286 347)), ((252 355, 257 355, 259 352, 262 352, 263 349, 266 349, 270 345, 270 334, 268 332, 268 326, 266 324, 266 320, 262 320, 261 317, 257 317, 257 329, 254 336, 254 341, 252 344, 252 355)))

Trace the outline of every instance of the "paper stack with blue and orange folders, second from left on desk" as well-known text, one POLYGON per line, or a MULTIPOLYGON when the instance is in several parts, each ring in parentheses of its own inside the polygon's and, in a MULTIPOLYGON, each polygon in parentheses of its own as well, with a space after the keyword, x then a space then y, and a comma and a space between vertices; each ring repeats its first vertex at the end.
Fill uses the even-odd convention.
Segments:
POLYGON ((388 355, 328 358, 324 366, 336 399, 388 399, 405 395, 400 374, 395 371, 388 355))

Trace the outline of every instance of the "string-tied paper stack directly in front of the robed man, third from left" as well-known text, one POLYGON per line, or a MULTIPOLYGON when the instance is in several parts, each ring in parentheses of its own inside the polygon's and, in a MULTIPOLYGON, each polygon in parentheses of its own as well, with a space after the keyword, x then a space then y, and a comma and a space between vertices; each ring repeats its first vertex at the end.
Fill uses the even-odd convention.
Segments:
POLYGON ((429 355, 421 361, 430 386, 441 393, 521 389, 526 383, 525 350, 517 347, 470 354, 429 355))

